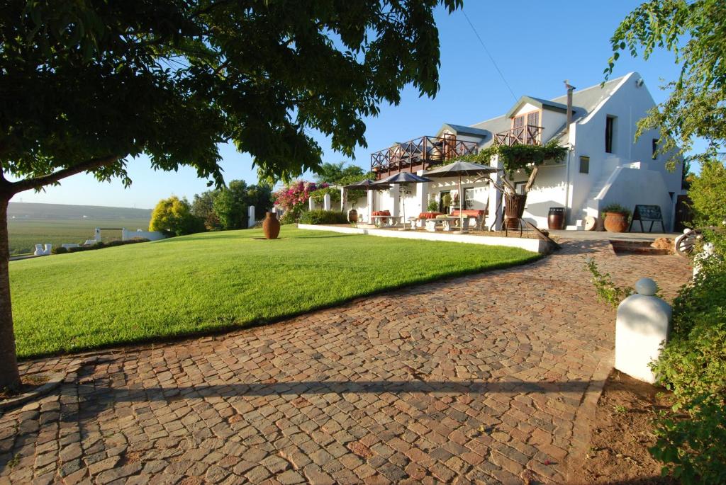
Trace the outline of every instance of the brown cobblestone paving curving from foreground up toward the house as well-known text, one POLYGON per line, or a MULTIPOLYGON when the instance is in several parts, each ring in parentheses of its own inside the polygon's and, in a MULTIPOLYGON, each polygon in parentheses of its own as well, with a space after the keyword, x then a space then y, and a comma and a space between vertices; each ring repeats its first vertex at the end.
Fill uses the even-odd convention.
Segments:
POLYGON ((587 254, 666 295, 690 273, 571 242, 272 326, 107 351, 0 417, 0 484, 566 482, 613 355, 587 254))

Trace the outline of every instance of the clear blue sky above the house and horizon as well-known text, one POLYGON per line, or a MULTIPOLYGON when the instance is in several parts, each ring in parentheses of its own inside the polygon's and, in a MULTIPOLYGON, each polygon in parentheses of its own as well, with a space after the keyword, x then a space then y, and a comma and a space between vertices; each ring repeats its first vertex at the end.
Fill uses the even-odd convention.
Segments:
MULTIPOLYGON (((521 0, 510 4, 465 0, 464 3, 464 12, 506 83, 465 15, 461 11, 449 15, 439 8, 436 22, 441 41, 441 88, 436 98, 420 97, 414 88, 405 88, 398 106, 383 106, 378 117, 365 120, 368 147, 358 147, 354 160, 334 152, 325 136, 317 136, 324 150, 323 161, 346 160, 368 170, 371 152, 396 141, 433 136, 443 123, 471 125, 497 117, 523 95, 546 99, 561 96, 566 92, 565 79, 581 89, 600 83, 612 54, 609 39, 640 1, 521 0)), ((653 99, 660 102, 666 99, 667 93, 659 86, 675 79, 679 67, 674 64, 672 54, 664 51, 656 51, 648 61, 621 56, 613 77, 632 71, 640 72, 653 99)), ((221 146, 220 153, 225 181, 257 182, 250 155, 240 154, 231 145, 221 146)), ((42 192, 17 194, 12 202, 152 208, 159 199, 172 194, 186 196, 191 201, 194 194, 208 189, 207 181, 197 178, 194 170, 155 171, 146 157, 129 160, 128 171, 134 181, 130 188, 123 188, 119 180, 99 183, 93 176, 81 174, 42 192)), ((313 174, 306 174, 304 178, 311 179, 313 174)))

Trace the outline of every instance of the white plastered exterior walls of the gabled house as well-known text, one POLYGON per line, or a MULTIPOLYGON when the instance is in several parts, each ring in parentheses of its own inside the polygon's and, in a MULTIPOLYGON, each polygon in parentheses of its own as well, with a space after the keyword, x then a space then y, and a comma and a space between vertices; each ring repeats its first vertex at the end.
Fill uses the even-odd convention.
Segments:
MULTIPOLYGON (((613 89, 610 96, 604 96, 595 109, 570 127, 568 137, 570 151, 566 160, 556 165, 540 167, 537 180, 529 192, 524 218, 540 228, 547 227, 547 214, 550 207, 566 207, 566 223, 574 225, 587 215, 598 216, 606 204, 619 203, 630 210, 636 204, 656 204, 661 206, 666 231, 672 230, 675 202, 681 189, 682 164, 678 163, 674 172, 666 170, 665 155, 652 158, 652 140, 659 138, 657 130, 650 130, 635 141, 637 120, 647 115, 648 109, 656 104, 648 89, 637 86, 640 79, 637 72, 625 76, 613 89), (605 152, 605 119, 608 115, 616 117, 613 133, 613 153, 605 152), (579 173, 580 156, 590 157, 589 173, 579 173), (628 170, 618 170, 628 167, 628 170), (640 173, 637 173, 640 168, 640 173), (673 197, 669 196, 673 192, 673 197)), ((599 86, 590 88, 599 90, 599 86)), ((575 102, 575 108, 577 104, 575 102)), ((526 103, 516 115, 539 109, 526 103)), ((566 114, 550 109, 540 110, 541 125, 544 127, 542 141, 548 141, 566 123, 566 114)), ((481 141, 473 136, 457 136, 458 140, 481 141)), ((425 176, 425 173, 423 173, 425 176)), ((525 174, 518 174, 515 181, 525 181, 525 174)), ((462 188, 473 185, 473 181, 462 181, 462 188)), ((486 187, 486 183, 476 186, 486 187)), ((457 179, 437 179, 434 183, 419 184, 415 196, 406 200, 406 215, 416 215, 425 210, 429 194, 438 195, 441 190, 457 190, 457 179)), ((463 194, 462 194, 463 195, 463 194)), ((484 209, 488 191, 477 191, 475 208, 484 209)), ((391 194, 383 192, 376 201, 376 210, 391 210, 398 213, 397 201, 391 194), (394 209, 394 207, 396 207, 394 209)), ((494 207, 490 207, 490 212, 494 207)))

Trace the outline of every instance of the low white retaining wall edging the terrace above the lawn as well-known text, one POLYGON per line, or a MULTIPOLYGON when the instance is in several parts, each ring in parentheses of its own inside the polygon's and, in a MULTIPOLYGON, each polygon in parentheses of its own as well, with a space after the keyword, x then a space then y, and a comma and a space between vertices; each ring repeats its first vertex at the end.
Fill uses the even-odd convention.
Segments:
POLYGON ((389 229, 348 228, 336 225, 298 224, 300 229, 312 231, 332 231, 345 234, 367 234, 399 239, 421 239, 423 241, 460 242, 466 244, 483 244, 484 246, 507 246, 526 249, 531 252, 544 253, 547 244, 542 239, 500 238, 492 236, 475 236, 473 234, 430 233, 428 231, 391 231, 389 229))

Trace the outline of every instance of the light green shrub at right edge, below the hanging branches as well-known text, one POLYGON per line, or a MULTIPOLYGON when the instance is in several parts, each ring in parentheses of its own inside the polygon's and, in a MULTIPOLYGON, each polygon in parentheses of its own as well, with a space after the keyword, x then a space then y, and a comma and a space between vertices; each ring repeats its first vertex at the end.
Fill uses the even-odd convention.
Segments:
POLYGON ((726 220, 726 167, 718 159, 701 164, 701 173, 690 181, 688 195, 696 225, 722 225, 726 220))

